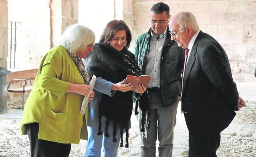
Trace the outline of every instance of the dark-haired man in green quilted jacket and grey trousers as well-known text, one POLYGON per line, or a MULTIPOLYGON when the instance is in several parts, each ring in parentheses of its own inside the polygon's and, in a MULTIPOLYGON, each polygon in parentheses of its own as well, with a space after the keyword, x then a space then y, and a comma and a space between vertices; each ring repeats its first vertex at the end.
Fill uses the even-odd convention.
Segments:
MULTIPOLYGON (((135 41, 134 55, 142 73, 151 76, 149 92, 150 115, 146 138, 141 133, 142 157, 155 157, 158 137, 159 157, 171 157, 174 126, 181 95, 181 71, 184 49, 171 40, 168 22, 169 6, 159 2, 151 8, 151 28, 135 41)), ((139 113, 139 123, 141 122, 139 113)), ((141 124, 139 124, 139 127, 141 124)))

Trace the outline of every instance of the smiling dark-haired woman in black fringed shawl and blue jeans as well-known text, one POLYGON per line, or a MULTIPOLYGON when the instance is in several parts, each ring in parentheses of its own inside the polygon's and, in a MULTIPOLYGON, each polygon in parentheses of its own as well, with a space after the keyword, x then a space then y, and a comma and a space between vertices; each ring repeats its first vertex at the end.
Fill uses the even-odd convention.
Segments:
POLYGON ((88 104, 88 142, 85 157, 100 157, 102 143, 103 157, 116 157, 119 136, 120 146, 123 146, 123 130, 126 131, 126 147, 128 147, 133 94, 141 96, 139 104, 144 117, 149 109, 146 103, 147 93, 144 93, 146 87, 139 85, 135 94, 130 91, 133 88, 132 84, 124 84, 127 75, 141 75, 135 63, 135 56, 128 51, 130 42, 131 33, 125 22, 112 20, 105 27, 99 43, 94 45, 94 52, 84 61, 90 77, 96 75, 101 80, 105 80, 105 84, 109 84, 108 88, 99 86, 97 78, 94 100, 88 104), (125 92, 119 90, 117 86, 126 86, 125 92), (101 128, 104 128, 104 131, 101 128))

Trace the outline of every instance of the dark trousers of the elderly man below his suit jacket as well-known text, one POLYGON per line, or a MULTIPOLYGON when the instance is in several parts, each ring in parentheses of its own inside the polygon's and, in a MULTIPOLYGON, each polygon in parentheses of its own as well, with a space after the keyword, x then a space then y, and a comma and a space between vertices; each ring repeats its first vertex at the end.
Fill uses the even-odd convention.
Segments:
POLYGON ((220 133, 207 137, 188 136, 188 157, 217 157, 216 151, 220 144, 220 133))

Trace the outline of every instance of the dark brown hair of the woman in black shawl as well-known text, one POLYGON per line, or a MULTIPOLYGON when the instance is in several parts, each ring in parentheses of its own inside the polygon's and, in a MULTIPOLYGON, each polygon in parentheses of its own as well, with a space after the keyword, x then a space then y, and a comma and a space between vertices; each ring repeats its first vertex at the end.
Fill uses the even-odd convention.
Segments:
POLYGON ((109 41, 114 37, 114 33, 116 31, 121 31, 121 30, 126 31, 126 41, 127 42, 126 42, 125 47, 128 49, 130 46, 130 42, 132 40, 132 34, 130 32, 130 29, 126 25, 126 23, 123 22, 122 20, 112 20, 112 21, 108 22, 107 26, 105 27, 105 29, 101 35, 99 42, 108 44, 109 41))

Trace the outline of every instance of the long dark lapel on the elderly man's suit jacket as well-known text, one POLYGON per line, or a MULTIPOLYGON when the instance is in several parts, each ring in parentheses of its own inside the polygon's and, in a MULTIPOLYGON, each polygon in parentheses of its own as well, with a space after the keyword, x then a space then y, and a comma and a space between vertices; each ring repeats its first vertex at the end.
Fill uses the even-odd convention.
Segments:
POLYGON ((187 61, 187 65, 186 65, 186 69, 185 69, 185 77, 184 77, 184 80, 183 80, 183 89, 182 89, 182 94, 184 93, 185 89, 186 89, 186 84, 187 84, 187 79, 190 75, 190 72, 192 70, 192 67, 194 65, 194 62, 196 60, 196 53, 197 53, 197 45, 198 45, 198 42, 199 40, 201 39, 201 36, 203 35, 203 32, 200 31, 199 34, 197 35, 197 38, 192 46, 192 50, 190 52, 190 56, 188 58, 188 61, 187 61))

